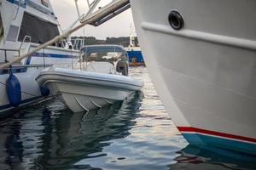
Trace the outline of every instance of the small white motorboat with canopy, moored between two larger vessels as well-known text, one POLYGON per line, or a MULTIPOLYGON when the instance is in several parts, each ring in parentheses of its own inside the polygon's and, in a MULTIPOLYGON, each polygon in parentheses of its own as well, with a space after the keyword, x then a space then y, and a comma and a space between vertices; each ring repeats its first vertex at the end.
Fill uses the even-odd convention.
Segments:
POLYGON ((49 88, 50 94, 59 95, 73 112, 112 105, 143 87, 143 82, 128 77, 125 49, 116 45, 85 46, 81 49, 80 71, 50 67, 37 81, 49 88), (104 55, 109 53, 111 58, 104 55))

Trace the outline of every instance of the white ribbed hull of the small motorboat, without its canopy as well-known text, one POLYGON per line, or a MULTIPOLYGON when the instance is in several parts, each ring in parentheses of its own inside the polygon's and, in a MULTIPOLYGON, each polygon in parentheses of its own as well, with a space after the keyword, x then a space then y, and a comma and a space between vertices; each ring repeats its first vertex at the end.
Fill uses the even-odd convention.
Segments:
POLYGON ((142 82, 130 77, 57 68, 42 71, 37 81, 47 86, 51 94, 59 95, 73 112, 112 105, 143 87, 142 82))

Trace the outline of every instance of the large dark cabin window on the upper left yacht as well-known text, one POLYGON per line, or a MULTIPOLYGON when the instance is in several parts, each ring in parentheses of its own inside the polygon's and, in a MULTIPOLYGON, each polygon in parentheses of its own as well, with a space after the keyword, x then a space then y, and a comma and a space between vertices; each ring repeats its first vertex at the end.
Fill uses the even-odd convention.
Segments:
POLYGON ((24 13, 20 26, 19 42, 22 42, 25 36, 31 36, 32 42, 44 43, 58 35, 60 32, 57 25, 41 20, 32 14, 24 13))

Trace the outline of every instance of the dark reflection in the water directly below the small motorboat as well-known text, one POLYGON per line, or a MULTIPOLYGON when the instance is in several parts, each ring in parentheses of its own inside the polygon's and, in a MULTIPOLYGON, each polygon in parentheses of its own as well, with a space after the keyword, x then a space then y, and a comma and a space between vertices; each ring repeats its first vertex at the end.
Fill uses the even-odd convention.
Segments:
MULTIPOLYGON (((122 139, 130 134, 141 95, 137 93, 123 104, 117 103, 98 111, 75 114, 61 111, 61 116, 53 122, 55 131, 51 128, 53 123, 46 121, 46 132, 42 137, 43 155, 36 160, 37 167, 74 168, 73 164, 81 159, 105 156, 102 149, 111 144, 112 139, 122 139), (90 156, 95 153, 100 154, 90 156)), ((83 165, 83 168, 88 167, 83 165)))

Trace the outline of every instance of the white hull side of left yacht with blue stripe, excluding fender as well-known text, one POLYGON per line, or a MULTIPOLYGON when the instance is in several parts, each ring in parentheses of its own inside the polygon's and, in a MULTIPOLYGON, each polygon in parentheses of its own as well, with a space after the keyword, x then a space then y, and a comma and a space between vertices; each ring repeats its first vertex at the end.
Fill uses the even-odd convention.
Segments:
MULTIPOLYGON (((49 67, 50 65, 56 65, 64 68, 72 67, 70 64, 71 59, 69 57, 70 52, 61 48, 55 49, 56 50, 51 48, 44 49, 45 54, 48 55, 45 58, 45 65, 40 64, 43 63, 43 57, 39 57, 43 54, 40 51, 37 54, 32 54, 32 56, 26 60, 26 64, 12 66, 13 74, 20 81, 21 102, 19 107, 14 107, 13 105, 9 104, 9 99, 6 92, 6 81, 9 77, 10 70, 9 68, 0 69, 0 94, 2 94, 0 98, 0 118, 3 116, 9 116, 15 113, 15 111, 19 111, 20 108, 26 107, 27 105, 32 105, 33 103, 37 103, 38 101, 43 101, 45 99, 40 93, 38 82, 35 80, 40 72, 45 69, 45 67, 49 67)), ((73 54, 73 58, 76 58, 79 55, 77 52, 73 54)), ((77 59, 73 60, 76 61, 77 59)))

